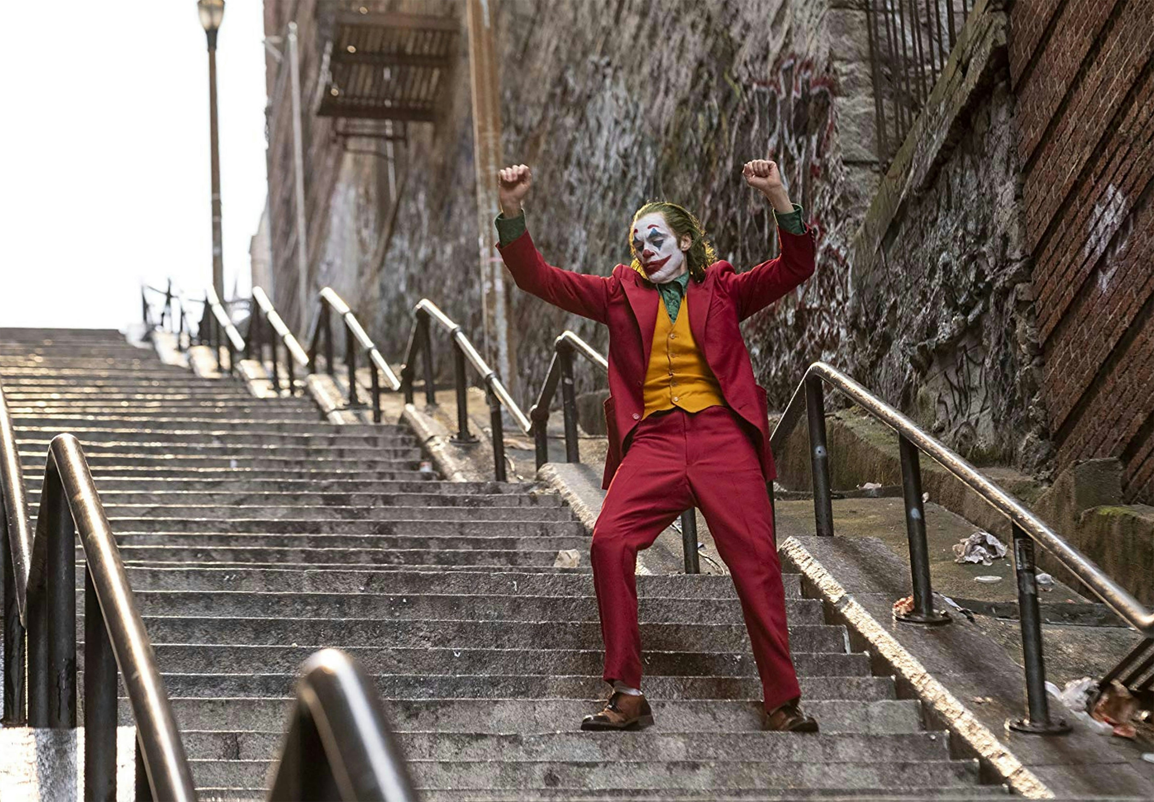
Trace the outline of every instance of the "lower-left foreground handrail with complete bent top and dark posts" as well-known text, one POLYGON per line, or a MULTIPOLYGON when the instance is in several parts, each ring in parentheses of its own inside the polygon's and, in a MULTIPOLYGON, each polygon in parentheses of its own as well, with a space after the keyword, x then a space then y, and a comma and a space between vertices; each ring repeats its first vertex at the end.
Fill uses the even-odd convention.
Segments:
POLYGON ((84 795, 115 799, 119 667, 136 721, 136 799, 195 800, 115 536, 84 451, 67 433, 48 446, 28 572, 28 725, 76 727, 77 534, 84 551, 84 795))

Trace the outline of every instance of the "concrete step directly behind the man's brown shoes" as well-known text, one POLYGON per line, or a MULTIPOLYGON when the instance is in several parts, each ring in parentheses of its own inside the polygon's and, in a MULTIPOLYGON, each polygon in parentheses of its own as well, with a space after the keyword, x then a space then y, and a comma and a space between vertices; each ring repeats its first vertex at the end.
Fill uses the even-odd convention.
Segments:
MULTIPOLYGON (((258 729, 284 732, 294 698, 172 697, 173 714, 182 731, 258 729)), ((391 725, 399 731, 437 733, 555 733, 576 731, 582 718, 600 709, 599 690, 587 699, 549 699, 526 704, 524 698, 382 699, 391 725)), ((922 729, 916 699, 853 702, 803 699, 822 732, 889 735, 922 729)), ((760 732, 762 704, 757 701, 653 701, 657 725, 646 732, 743 733, 760 732)), ((132 724, 127 699, 120 701, 121 724, 132 724)), ((600 733, 600 737, 622 733, 600 733)), ((785 737, 801 737, 786 735, 785 737)))

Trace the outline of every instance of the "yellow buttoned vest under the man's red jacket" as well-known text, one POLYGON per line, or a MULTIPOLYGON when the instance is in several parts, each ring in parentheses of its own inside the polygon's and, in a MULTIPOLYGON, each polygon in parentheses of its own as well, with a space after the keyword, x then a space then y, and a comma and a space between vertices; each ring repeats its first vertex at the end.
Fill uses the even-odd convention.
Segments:
POLYGON ((649 369, 642 399, 643 418, 662 409, 680 407, 687 413, 699 413, 706 407, 724 404, 721 387, 705 362, 705 355, 689 328, 688 298, 681 302, 676 321, 661 298, 657 302, 657 325, 653 327, 653 347, 650 349, 649 369))

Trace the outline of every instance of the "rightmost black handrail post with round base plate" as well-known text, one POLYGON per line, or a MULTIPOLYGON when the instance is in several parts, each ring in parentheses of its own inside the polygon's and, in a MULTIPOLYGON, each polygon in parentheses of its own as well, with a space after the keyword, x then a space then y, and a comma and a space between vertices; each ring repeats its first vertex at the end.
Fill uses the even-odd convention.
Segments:
POLYGON ((1039 735, 1070 732, 1064 719, 1050 719, 1046 696, 1046 660, 1042 657, 1042 616, 1037 608, 1037 580, 1034 575, 1034 540, 1017 523, 1013 529, 1013 563, 1018 575, 1018 618, 1021 621, 1021 653, 1026 671, 1027 717, 1007 722, 1011 729, 1039 735))

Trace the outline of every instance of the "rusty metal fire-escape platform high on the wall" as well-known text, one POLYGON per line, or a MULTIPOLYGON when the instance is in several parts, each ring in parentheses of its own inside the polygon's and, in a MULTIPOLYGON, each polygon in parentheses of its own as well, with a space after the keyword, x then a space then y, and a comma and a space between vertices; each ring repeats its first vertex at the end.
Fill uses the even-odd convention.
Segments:
POLYGON ((320 116, 434 122, 459 30, 455 17, 337 12, 324 43, 320 116))

